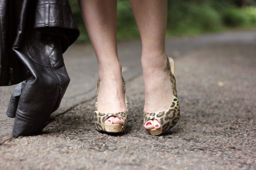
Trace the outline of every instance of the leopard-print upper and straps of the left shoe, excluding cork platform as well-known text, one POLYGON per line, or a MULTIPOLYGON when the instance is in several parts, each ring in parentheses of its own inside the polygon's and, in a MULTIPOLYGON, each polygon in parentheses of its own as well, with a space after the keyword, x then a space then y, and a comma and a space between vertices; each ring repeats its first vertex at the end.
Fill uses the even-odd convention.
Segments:
MULTIPOLYGON (((125 93, 125 102, 126 102, 126 107, 127 107, 128 102, 127 102, 124 78, 123 78, 123 85, 124 85, 124 93, 125 93)), ((119 116, 121 119, 124 120, 124 124, 121 127, 121 131, 120 131, 120 132, 122 132, 125 128, 125 125, 128 122, 128 115, 129 115, 128 109, 127 109, 127 112, 100 113, 98 111, 98 108, 97 108, 98 92, 99 92, 99 80, 97 82, 97 94, 96 94, 96 102, 95 102, 95 110, 94 110, 94 126, 95 126, 95 129, 97 131, 106 132, 105 125, 104 125, 105 120, 108 119, 110 116, 119 116)))

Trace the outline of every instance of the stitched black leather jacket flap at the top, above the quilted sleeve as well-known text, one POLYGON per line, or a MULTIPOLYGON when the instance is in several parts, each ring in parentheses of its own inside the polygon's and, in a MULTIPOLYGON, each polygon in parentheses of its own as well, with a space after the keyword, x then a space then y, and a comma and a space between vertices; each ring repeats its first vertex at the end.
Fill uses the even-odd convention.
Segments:
POLYGON ((71 7, 63 1, 60 4, 53 0, 51 4, 48 1, 37 4, 35 9, 34 28, 45 31, 50 34, 59 35, 63 38, 63 52, 75 42, 80 32, 72 15, 71 7))

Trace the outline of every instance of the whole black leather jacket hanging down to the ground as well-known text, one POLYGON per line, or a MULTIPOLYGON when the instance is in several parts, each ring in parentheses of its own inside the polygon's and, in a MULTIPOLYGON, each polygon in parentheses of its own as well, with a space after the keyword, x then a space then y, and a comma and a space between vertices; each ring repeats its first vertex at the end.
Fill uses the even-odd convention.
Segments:
POLYGON ((53 120, 70 80, 62 54, 78 36, 68 0, 0 0, 0 86, 19 83, 7 110, 15 137, 53 120))

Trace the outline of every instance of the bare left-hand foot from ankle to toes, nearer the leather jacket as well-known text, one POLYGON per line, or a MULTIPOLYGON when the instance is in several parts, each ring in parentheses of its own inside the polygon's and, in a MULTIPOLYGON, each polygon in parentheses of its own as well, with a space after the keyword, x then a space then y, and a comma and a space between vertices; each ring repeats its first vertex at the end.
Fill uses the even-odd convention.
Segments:
MULTIPOLYGON (((101 113, 117 113, 127 111, 122 66, 114 63, 99 65, 99 92, 97 99, 98 111, 101 113), (116 65, 116 66, 115 66, 116 65), (108 68, 106 68, 108 66, 108 68)), ((118 116, 110 116, 105 123, 123 124, 124 120, 118 116)))

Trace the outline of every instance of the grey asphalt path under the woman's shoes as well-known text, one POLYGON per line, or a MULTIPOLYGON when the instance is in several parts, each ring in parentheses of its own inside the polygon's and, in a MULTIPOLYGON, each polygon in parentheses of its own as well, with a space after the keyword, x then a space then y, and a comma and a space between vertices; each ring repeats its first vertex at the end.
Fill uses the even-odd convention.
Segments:
POLYGON ((157 137, 143 128, 140 43, 118 46, 130 113, 124 133, 94 130, 97 62, 88 44, 75 44, 65 54, 72 82, 64 103, 80 104, 29 137, 13 138, 13 119, 1 114, 0 169, 256 169, 255 32, 167 39, 181 118, 157 137))

